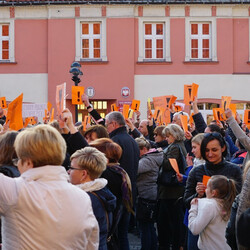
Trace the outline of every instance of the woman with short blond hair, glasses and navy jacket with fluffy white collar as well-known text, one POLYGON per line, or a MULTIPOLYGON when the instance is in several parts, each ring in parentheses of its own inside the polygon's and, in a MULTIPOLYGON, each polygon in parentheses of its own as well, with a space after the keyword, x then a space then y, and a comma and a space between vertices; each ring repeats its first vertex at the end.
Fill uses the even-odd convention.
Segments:
POLYGON ((77 150, 70 158, 70 182, 90 196, 93 211, 99 224, 99 250, 107 250, 108 232, 112 226, 112 212, 116 198, 106 187, 108 181, 100 178, 106 169, 107 158, 93 147, 77 150))

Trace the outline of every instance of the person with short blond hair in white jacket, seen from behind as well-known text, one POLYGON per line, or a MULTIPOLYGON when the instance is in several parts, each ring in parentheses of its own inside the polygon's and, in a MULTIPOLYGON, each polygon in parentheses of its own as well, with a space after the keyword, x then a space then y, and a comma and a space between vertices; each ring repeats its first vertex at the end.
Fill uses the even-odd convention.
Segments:
POLYGON ((0 174, 2 248, 97 249, 90 198, 68 182, 61 166, 66 143, 60 133, 48 125, 28 128, 14 147, 21 176, 0 174))

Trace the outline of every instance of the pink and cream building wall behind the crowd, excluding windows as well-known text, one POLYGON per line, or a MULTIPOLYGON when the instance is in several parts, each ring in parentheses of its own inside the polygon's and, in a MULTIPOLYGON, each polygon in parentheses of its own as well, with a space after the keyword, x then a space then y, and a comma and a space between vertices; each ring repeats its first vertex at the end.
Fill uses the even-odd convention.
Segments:
POLYGON ((140 99, 145 114, 147 97, 174 94, 182 99, 183 85, 195 82, 200 98, 249 100, 249 6, 51 5, 14 7, 14 15, 12 7, 1 7, 0 22, 14 20, 15 62, 0 63, 0 95, 11 101, 22 91, 26 102, 54 104, 56 85, 66 82, 70 103, 77 22, 102 19, 106 60, 81 62, 81 85, 94 87, 94 99, 140 99), (186 27, 192 19, 215 22, 216 61, 185 61, 186 27), (142 20, 169 23, 170 61, 139 62, 142 20), (131 90, 128 98, 121 96, 123 87, 131 90))

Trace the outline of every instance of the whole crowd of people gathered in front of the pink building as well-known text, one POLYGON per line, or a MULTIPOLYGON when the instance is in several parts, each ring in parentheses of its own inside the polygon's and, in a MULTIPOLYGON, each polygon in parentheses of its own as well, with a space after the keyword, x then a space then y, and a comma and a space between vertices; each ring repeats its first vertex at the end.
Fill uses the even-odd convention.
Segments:
POLYGON ((206 124, 193 102, 157 124, 148 114, 9 131, 0 110, 2 249, 250 249, 250 133, 238 115, 206 124))

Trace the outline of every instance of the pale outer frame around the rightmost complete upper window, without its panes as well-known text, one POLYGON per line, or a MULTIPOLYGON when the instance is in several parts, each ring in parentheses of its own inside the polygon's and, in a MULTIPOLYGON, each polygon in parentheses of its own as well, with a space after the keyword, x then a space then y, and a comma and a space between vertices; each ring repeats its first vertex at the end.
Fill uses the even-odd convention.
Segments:
MULTIPOLYGON (((186 17, 185 20, 185 61, 214 61, 217 62, 217 31, 216 31, 216 17, 186 17), (210 58, 191 58, 191 23, 210 23, 210 42, 209 55, 210 58)), ((205 36, 205 35, 203 35, 205 36)), ((199 46, 198 46, 199 48, 199 46)), ((201 46, 202 49, 202 46, 201 46)))

